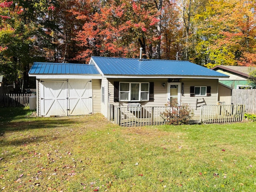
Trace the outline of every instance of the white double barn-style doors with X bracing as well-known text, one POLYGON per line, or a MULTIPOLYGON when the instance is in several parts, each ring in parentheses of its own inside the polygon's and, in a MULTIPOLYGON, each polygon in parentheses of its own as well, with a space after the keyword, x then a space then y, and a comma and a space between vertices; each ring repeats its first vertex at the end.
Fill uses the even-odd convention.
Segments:
POLYGON ((92 113, 92 80, 40 80, 41 116, 92 113))

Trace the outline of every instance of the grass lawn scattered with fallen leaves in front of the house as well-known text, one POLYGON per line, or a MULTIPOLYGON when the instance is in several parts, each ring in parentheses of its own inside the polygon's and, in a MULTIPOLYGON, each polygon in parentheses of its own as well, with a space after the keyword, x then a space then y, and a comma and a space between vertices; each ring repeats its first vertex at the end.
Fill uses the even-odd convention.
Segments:
POLYGON ((0 190, 252 192, 256 123, 122 128, 0 108, 0 190))

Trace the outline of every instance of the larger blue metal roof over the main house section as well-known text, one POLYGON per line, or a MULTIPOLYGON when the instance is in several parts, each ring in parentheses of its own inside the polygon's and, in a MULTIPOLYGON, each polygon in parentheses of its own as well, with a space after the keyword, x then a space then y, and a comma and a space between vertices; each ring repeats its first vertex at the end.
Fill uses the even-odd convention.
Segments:
POLYGON ((104 75, 177 75, 228 77, 189 61, 92 57, 104 75))

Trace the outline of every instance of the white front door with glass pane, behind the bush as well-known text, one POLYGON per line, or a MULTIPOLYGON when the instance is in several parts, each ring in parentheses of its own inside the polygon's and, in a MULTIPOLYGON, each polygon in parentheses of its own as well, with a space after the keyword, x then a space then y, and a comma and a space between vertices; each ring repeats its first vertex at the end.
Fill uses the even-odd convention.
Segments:
POLYGON ((176 102, 180 105, 181 83, 168 83, 167 102, 176 102))

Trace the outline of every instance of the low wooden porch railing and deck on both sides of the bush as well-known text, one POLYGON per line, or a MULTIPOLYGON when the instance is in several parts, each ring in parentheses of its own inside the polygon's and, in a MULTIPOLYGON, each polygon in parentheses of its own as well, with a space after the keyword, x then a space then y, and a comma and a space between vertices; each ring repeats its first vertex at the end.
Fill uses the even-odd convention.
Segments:
MULTIPOLYGON (((167 122, 161 114, 166 106, 114 106, 111 120, 120 126, 164 125, 167 122)), ((244 105, 204 105, 200 106, 200 116, 192 116, 189 124, 240 122, 244 119, 244 105)))

